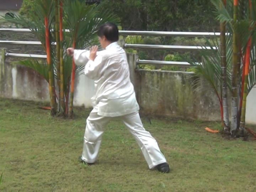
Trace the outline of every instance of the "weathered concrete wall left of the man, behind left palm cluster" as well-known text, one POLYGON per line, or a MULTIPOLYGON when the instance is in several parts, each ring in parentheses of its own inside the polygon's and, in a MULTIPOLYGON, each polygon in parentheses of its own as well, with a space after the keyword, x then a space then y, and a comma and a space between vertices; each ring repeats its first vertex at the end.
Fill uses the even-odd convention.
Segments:
MULTIPOLYGON (((48 82, 37 72, 21 65, 0 65, 0 97, 49 101, 48 82)), ((75 79, 74 105, 91 107, 94 81, 85 75, 75 79)))

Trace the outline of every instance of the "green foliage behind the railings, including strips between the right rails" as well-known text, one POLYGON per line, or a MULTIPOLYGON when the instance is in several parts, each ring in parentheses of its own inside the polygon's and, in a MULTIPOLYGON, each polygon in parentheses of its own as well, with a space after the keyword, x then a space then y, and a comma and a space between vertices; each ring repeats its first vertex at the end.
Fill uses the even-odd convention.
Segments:
MULTIPOLYGON (((86 1, 86 0, 81 0, 86 1)), ((107 1, 104 10, 111 10, 121 20, 122 30, 142 31, 219 31, 219 23, 215 20, 214 7, 209 0, 102 0, 107 1)), ((21 15, 31 20, 34 18, 33 0, 24 0, 20 9, 21 15)), ((133 44, 165 44, 203 46, 204 38, 184 37, 124 37, 126 43, 133 44)), ((167 50, 133 50, 140 59, 187 61, 187 57, 198 58, 197 51, 174 52, 167 50), (167 55, 175 55, 167 57, 167 55), (179 58, 178 60, 176 60, 179 58)), ((198 58, 198 60, 200 60, 198 58)), ((145 69, 186 70, 186 68, 140 65, 145 69)))

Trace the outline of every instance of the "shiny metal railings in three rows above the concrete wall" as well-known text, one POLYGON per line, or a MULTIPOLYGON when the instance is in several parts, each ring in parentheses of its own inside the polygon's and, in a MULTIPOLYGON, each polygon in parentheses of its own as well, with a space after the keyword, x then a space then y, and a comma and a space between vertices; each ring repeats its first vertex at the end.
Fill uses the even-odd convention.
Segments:
MULTIPOLYGON (((69 31, 69 30, 66 30, 69 31)), ((31 32, 30 29, 21 28, 0 28, 0 32, 31 32)), ((141 36, 171 36, 171 37, 218 37, 220 33, 213 32, 164 32, 164 31, 119 31, 120 35, 141 35, 141 36)), ((20 44, 20 45, 41 45, 39 41, 0 41, 4 44, 20 44)), ((133 49, 166 49, 166 50, 202 50, 212 49, 204 46, 169 46, 169 45, 149 45, 149 44, 124 44, 123 48, 133 49)), ((213 47, 213 49, 218 49, 213 47)), ((30 57, 30 58, 47 58, 46 55, 38 54, 19 54, 6 53, 6 57, 30 57)), ((157 60, 137 60, 137 64, 153 64, 153 65, 175 65, 175 66, 191 66, 187 62, 173 61, 157 61, 157 60)))

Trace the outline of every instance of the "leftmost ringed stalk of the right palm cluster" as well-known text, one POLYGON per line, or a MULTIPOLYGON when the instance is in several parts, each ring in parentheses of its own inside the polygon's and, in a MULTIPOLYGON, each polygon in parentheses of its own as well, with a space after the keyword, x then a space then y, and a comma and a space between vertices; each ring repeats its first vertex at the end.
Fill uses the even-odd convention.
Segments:
MULTIPOLYGON (((226 0, 223 0, 224 6, 226 0)), ((221 4, 222 6, 222 4, 221 4)), ((226 23, 220 23, 220 50, 221 50, 221 67, 222 67, 222 106, 223 106, 223 128, 224 131, 229 131, 229 113, 228 113, 228 90, 226 82, 226 23)))

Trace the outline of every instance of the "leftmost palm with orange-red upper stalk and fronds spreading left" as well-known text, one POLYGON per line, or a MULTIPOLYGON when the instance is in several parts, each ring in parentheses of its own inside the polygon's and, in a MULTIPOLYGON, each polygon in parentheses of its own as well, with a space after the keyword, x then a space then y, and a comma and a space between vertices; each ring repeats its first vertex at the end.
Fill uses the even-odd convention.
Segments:
POLYGON ((20 15, 14 15, 14 17, 2 17, 2 19, 4 19, 6 22, 15 23, 25 28, 30 28, 32 33, 39 39, 39 41, 41 41, 47 54, 47 67, 36 60, 22 61, 20 64, 26 65, 34 70, 41 70, 39 71, 39 74, 45 75, 44 78, 49 83, 51 114, 54 115, 57 111, 52 63, 52 50, 54 47, 51 44, 54 38, 52 33, 49 31, 53 21, 53 2, 52 0, 34 0, 34 3, 37 6, 38 15, 34 21, 29 21, 26 17, 20 15))

